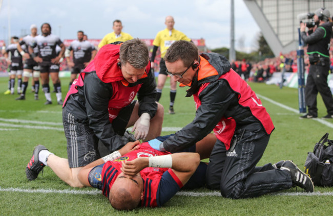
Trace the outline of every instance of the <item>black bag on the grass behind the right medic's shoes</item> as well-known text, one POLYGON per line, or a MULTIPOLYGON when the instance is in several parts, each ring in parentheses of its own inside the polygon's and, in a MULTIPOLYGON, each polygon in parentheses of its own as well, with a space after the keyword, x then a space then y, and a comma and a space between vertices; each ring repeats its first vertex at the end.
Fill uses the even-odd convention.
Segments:
POLYGON ((315 185, 333 186, 333 140, 328 133, 316 143, 314 152, 307 153, 304 168, 315 185))

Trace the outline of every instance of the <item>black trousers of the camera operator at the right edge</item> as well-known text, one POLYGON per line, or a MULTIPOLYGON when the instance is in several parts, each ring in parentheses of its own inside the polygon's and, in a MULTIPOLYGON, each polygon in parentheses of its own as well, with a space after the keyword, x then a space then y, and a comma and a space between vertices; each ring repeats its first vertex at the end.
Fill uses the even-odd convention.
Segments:
POLYGON ((320 65, 320 63, 317 65, 310 65, 305 85, 305 103, 308 109, 308 114, 310 115, 318 115, 318 92, 324 101, 327 113, 333 115, 333 98, 327 85, 328 70, 329 63, 326 63, 325 66, 320 65))

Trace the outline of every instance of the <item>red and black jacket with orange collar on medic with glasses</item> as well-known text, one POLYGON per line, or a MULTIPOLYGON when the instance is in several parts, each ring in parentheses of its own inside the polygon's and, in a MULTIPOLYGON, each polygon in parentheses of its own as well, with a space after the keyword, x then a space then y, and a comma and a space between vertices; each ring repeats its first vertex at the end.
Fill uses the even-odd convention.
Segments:
POLYGON ((178 152, 209 134, 212 130, 226 149, 236 127, 260 122, 272 133, 272 119, 248 84, 230 68, 230 62, 216 53, 200 54, 200 68, 186 97, 193 95, 196 116, 174 136, 163 141, 168 152, 178 152))

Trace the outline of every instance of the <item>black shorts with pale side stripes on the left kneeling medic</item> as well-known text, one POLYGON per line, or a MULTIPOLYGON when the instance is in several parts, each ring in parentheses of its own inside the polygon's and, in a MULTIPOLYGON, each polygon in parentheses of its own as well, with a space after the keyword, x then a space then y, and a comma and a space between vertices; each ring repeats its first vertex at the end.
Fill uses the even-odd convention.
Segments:
MULTIPOLYGON (((122 108, 113 120, 112 127, 118 135, 123 135, 130 121, 136 101, 122 108)), ((69 167, 85 166, 100 158, 98 138, 89 127, 88 119, 79 121, 66 107, 63 109, 63 125, 67 139, 67 156, 69 167)))

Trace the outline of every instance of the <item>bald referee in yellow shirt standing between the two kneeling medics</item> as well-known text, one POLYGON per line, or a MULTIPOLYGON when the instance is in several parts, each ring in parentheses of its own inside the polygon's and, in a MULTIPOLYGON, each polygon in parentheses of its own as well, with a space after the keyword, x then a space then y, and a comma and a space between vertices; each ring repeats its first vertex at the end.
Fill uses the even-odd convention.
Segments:
MULTIPOLYGON (((152 57, 151 57, 152 67, 154 67, 154 60, 155 60, 156 51, 157 51, 158 47, 160 47, 160 52, 161 52, 161 61, 159 63, 160 70, 159 70, 159 75, 157 77, 157 87, 156 87, 156 91, 157 91, 156 101, 157 102, 161 98, 162 89, 164 87, 166 78, 168 77, 168 75, 166 74, 165 61, 163 60, 166 50, 168 50, 168 48, 171 46, 171 44, 177 40, 191 41, 191 39, 188 38, 184 33, 175 30, 174 25, 175 25, 175 20, 172 16, 165 17, 166 29, 158 32, 153 41, 154 48, 153 48, 153 53, 152 53, 152 57)), ((169 113, 175 114, 173 106, 175 103, 177 86, 176 86, 176 81, 175 81, 174 77, 170 78, 170 88, 171 89, 170 89, 169 113)))

